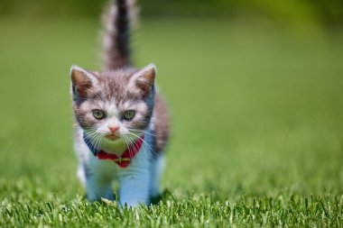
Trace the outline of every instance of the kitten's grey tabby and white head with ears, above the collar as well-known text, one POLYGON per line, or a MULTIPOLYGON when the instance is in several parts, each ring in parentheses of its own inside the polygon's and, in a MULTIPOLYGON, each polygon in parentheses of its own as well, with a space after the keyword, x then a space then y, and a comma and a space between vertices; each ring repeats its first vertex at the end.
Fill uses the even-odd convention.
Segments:
POLYGON ((97 149, 128 144, 146 131, 153 114, 155 74, 153 64, 103 73, 71 68, 76 120, 97 149))

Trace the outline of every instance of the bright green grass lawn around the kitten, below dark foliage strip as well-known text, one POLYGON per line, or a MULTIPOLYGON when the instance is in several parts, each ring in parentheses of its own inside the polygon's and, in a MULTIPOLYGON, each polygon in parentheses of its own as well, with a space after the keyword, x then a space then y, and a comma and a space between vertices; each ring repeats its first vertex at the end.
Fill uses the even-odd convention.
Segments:
POLYGON ((343 34, 148 20, 172 111, 160 205, 88 203, 76 178, 71 64, 100 66, 91 20, 0 20, 0 226, 342 226, 343 34))

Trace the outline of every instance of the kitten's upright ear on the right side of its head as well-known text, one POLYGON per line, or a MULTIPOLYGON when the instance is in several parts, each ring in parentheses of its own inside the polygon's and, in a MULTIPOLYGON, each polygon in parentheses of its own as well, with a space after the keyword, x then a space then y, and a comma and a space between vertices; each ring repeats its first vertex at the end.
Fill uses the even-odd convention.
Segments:
POLYGON ((130 80, 130 84, 139 88, 144 95, 147 95, 153 89, 154 80, 156 77, 156 66, 151 63, 145 68, 142 68, 134 74, 130 80))

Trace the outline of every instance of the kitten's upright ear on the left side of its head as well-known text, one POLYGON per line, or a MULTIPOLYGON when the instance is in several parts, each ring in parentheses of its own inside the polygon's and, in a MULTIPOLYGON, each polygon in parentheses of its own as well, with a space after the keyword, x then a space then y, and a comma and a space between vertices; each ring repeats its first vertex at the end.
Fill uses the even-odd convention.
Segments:
POLYGON ((70 78, 74 96, 86 97, 88 89, 97 84, 95 73, 75 65, 70 68, 70 78))

